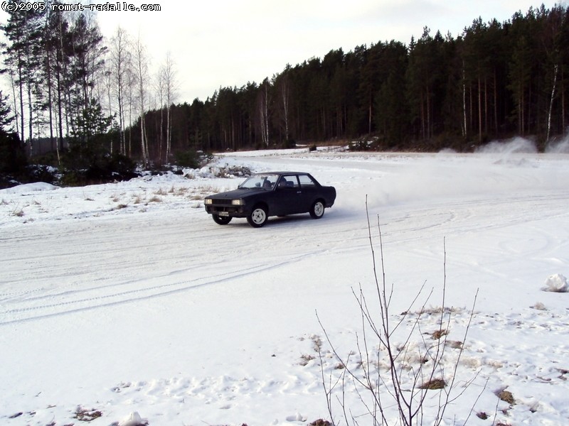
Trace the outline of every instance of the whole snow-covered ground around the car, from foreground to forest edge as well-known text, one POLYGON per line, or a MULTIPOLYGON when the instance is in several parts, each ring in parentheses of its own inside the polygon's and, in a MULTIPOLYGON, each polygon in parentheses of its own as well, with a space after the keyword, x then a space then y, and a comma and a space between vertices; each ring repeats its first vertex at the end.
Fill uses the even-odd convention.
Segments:
MULTIPOLYGON (((394 322, 425 284, 395 344, 405 346, 422 304, 442 307, 446 272, 447 338, 462 345, 447 349, 441 376, 454 376, 462 394, 442 424, 565 425, 568 166, 563 153, 265 151, 219 155, 213 169, 186 176, 0 190, 0 424, 330 420, 322 378, 346 371, 331 344, 360 374, 352 291, 375 295, 367 197, 394 322), (308 171, 336 187, 336 204, 320 220, 219 226, 203 197, 242 180, 213 177, 227 165, 308 171), (504 390, 514 400, 501 400, 504 390)), ((409 352, 439 318, 421 316, 409 352)), ((370 353, 371 368, 385 371, 370 353)), ((336 386, 336 424, 346 425, 341 398, 349 417, 372 424, 358 391, 348 379, 336 386)), ((440 394, 427 391, 423 424, 432 424, 440 394)))

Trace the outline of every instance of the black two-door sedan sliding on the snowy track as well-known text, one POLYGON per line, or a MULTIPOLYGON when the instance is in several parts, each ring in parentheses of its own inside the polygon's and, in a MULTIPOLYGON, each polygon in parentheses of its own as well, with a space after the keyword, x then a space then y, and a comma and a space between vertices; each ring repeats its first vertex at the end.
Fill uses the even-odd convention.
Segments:
POLYGON ((257 173, 236 190, 206 197, 206 212, 220 225, 245 217, 251 226, 263 226, 270 216, 309 213, 320 219, 336 200, 336 189, 320 185, 309 173, 257 173))

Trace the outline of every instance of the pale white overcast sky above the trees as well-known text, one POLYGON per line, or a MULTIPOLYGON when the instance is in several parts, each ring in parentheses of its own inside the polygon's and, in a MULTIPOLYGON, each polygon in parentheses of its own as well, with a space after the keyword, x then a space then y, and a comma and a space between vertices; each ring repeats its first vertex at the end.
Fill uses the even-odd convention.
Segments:
MULTIPOLYGON (((177 102, 205 100, 219 87, 260 83, 332 49, 431 34, 457 37, 477 17, 503 22, 542 1, 531 0, 143 0, 160 11, 99 12, 103 35, 122 26, 148 48, 152 69, 170 51, 180 90, 177 102)), ((106 0, 92 3, 104 4, 106 0)), ((111 1, 114 3, 114 1, 111 1)), ((72 0, 63 3, 73 4, 72 0)), ((75 1, 77 3, 77 1, 75 1)), ((543 1, 551 8, 554 1, 543 1)), ((558 2, 567 4, 567 0, 558 2)), ((121 6, 124 1, 120 1, 121 6)), ((142 1, 129 0, 139 7, 142 1)))

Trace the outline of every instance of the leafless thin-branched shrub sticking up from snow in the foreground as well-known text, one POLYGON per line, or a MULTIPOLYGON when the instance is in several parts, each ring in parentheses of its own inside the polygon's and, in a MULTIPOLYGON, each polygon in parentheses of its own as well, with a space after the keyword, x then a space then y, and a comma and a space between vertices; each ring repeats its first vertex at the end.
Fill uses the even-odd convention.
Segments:
MULTIPOLYGON (((430 290, 425 297, 423 294, 425 283, 423 283, 408 309, 396 317, 390 312, 394 288, 393 285, 390 288, 386 285, 379 217, 379 268, 369 216, 368 234, 375 287, 371 295, 364 294, 361 285, 357 291, 352 289, 360 314, 360 331, 356 332, 357 350, 351 351, 347 356, 340 354, 317 314, 326 342, 342 366, 339 374, 334 375, 331 370, 329 377, 326 377, 324 359, 319 348, 322 385, 330 420, 334 425, 339 424, 334 420, 333 406, 336 407, 336 403, 333 404, 333 394, 335 394, 346 425, 445 424, 443 418, 447 409, 477 377, 475 373, 469 381, 462 383, 457 379, 457 370, 464 350, 462 342, 466 341, 472 323, 477 293, 474 295, 473 307, 468 314, 462 340, 447 340, 450 324, 457 312, 461 311, 446 306, 446 243, 444 243, 444 278, 440 307, 427 309, 427 302, 434 290, 430 290), (416 310, 414 305, 423 298, 424 302, 416 310), (422 324, 428 320, 429 327, 432 327, 433 318, 437 330, 430 333, 422 332, 422 324), (408 329, 404 329, 405 326, 408 329), (450 351, 452 356, 449 354, 450 351), (346 402, 345 396, 349 385, 355 390, 359 400, 357 408, 346 402)), ((464 424, 467 423, 469 416, 464 420, 464 424)))

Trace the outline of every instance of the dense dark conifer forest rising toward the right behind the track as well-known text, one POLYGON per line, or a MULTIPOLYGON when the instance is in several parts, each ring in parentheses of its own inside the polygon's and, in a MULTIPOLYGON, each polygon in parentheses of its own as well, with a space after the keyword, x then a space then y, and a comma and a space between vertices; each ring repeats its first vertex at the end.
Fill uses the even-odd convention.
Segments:
POLYGON ((425 28, 409 45, 331 50, 177 105, 174 137, 211 150, 367 139, 385 150, 470 151, 514 135, 543 146, 569 124, 568 46, 562 6, 503 23, 478 18, 457 38, 425 28))

